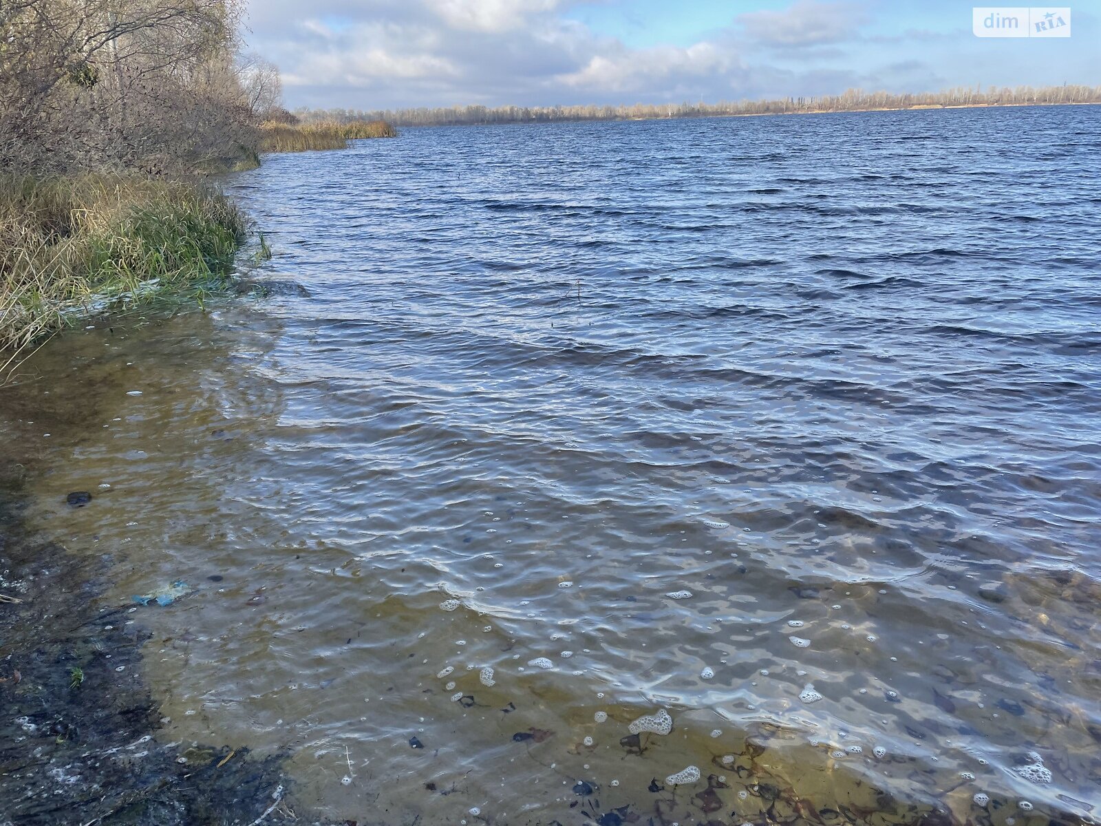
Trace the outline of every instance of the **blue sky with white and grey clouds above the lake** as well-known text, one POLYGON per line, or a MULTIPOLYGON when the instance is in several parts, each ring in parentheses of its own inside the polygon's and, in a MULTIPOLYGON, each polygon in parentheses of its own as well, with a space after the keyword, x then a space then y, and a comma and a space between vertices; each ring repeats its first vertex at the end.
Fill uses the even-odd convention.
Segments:
MULTIPOLYGON (((984 0, 989 2, 989 0, 984 0)), ((958 0, 251 0, 290 108, 657 102, 1101 85, 1101 0, 1070 39, 979 39, 958 0)))

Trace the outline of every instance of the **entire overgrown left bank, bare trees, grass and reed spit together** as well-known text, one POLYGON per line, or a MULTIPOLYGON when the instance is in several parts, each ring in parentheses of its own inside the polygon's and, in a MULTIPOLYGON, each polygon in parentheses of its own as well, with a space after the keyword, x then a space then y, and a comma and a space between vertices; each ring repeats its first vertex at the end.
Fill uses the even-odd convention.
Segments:
POLYGON ((81 314, 230 278, 248 221, 205 176, 394 134, 299 124, 277 67, 241 50, 242 13, 0 0, 0 383, 81 314))

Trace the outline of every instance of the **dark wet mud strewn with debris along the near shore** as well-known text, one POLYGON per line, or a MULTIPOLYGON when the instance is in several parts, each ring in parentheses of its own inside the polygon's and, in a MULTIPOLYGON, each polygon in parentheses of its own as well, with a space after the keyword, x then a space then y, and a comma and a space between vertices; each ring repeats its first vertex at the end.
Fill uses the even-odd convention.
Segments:
POLYGON ((0 604, 0 823, 299 823, 277 758, 159 741, 146 633, 99 602, 106 563, 36 542, 0 497, 0 595, 20 600, 0 604))

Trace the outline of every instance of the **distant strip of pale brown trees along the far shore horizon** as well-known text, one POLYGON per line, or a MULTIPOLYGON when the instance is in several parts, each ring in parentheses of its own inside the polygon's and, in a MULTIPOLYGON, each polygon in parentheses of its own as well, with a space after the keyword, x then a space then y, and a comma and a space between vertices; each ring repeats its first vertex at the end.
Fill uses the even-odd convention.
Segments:
POLYGON ((874 109, 917 109, 966 106, 1053 106, 1101 104, 1101 86, 1017 86, 956 88, 937 93, 892 95, 849 89, 843 95, 781 100, 741 100, 719 104, 635 104, 633 106, 454 106, 434 109, 298 109, 305 123, 384 120, 399 127, 462 123, 526 123, 560 120, 650 120, 656 118, 712 118, 738 115, 795 115, 853 112, 874 109))

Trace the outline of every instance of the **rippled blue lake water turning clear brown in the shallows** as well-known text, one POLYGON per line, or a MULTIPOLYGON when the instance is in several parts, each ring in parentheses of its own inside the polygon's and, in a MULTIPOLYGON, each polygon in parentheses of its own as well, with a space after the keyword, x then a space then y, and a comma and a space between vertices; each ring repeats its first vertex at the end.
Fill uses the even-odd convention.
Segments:
POLYGON ((1095 818, 1099 126, 271 156, 229 182, 268 297, 3 391, 35 523, 110 600, 185 582, 132 617, 163 736, 284 753, 334 818, 1095 818))

